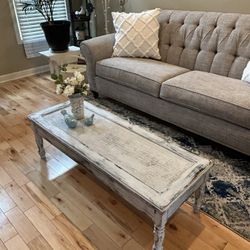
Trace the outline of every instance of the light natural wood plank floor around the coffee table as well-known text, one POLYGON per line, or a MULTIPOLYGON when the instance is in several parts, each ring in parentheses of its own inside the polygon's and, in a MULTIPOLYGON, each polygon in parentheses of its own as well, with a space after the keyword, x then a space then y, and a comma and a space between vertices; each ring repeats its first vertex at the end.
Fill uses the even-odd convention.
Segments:
MULTIPOLYGON (((0 85, 0 250, 151 249, 152 225, 45 143, 40 161, 29 113, 62 102, 47 75, 0 85), (47 178, 48 176, 48 178, 47 178)), ((184 204, 165 249, 249 250, 250 243, 184 204)))

